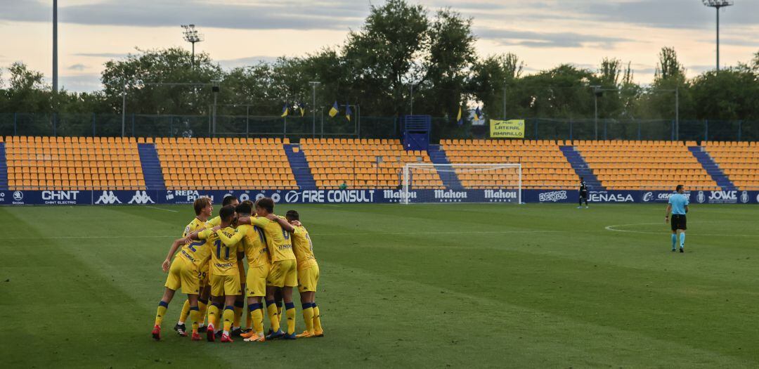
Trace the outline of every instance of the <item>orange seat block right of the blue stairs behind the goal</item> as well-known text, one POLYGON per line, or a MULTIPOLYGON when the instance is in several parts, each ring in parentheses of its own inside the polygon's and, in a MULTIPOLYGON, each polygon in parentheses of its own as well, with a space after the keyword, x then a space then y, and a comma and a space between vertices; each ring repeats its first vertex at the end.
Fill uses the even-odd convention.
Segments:
MULTIPOLYGON (((525 189, 575 188, 579 178, 559 150, 560 145, 562 142, 555 140, 440 140, 452 164, 521 163, 525 189)), ((465 188, 499 188, 504 182, 517 181, 512 169, 456 172, 465 188)))

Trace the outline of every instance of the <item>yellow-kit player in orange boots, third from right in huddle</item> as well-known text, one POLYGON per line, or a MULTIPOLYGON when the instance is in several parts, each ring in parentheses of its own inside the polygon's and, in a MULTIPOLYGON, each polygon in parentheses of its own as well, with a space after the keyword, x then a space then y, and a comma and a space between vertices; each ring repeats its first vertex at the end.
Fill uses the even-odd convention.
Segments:
MULTIPOLYGON (((250 217, 252 212, 250 201, 243 201, 236 208, 238 217, 250 217)), ((262 298, 266 295, 266 276, 269 276, 271 262, 266 241, 263 238, 263 229, 257 226, 241 224, 235 230, 235 235, 227 237, 220 233, 219 238, 227 245, 242 243, 242 248, 247 259, 246 290, 247 308, 254 330, 250 333, 242 333, 241 336, 248 342, 264 342, 263 335, 263 304, 262 298)))

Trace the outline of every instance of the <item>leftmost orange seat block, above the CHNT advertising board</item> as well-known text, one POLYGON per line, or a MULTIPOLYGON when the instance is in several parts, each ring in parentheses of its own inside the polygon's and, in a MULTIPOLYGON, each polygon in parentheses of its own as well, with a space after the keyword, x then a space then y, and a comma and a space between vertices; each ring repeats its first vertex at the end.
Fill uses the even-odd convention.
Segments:
POLYGON ((143 190, 134 137, 6 137, 8 188, 143 190))

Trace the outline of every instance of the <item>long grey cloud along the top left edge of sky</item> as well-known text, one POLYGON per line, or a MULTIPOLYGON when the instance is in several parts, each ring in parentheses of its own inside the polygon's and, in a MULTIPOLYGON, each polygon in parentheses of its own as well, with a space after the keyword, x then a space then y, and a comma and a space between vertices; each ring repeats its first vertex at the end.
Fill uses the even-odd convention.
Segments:
MULTIPOLYGON (((61 23, 137 27, 199 27, 252 30, 345 30, 361 24, 369 7, 364 2, 253 2, 250 4, 172 0, 116 0, 95 4, 58 5, 61 23)), ((49 22, 50 7, 42 2, 2 2, 0 20, 49 22)))

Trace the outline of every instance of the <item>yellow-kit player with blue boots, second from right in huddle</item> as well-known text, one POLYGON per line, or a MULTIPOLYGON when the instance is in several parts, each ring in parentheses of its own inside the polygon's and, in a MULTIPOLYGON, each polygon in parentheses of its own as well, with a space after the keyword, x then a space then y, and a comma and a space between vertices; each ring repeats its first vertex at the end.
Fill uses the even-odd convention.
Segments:
POLYGON ((266 278, 266 311, 272 324, 272 334, 266 336, 266 339, 295 339, 295 304, 292 302, 292 288, 298 285, 298 276, 295 254, 290 242, 290 232, 294 231, 294 227, 273 213, 274 201, 269 197, 262 197, 256 201, 258 217, 241 217, 238 224, 251 224, 263 229, 266 248, 269 249, 269 256, 272 258, 272 268, 266 278), (279 327, 279 316, 274 304, 277 288, 282 288, 282 300, 285 301, 288 330, 286 334, 279 327))

